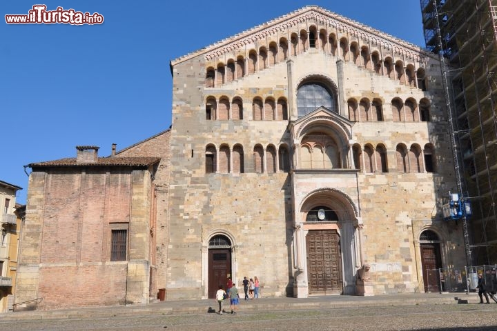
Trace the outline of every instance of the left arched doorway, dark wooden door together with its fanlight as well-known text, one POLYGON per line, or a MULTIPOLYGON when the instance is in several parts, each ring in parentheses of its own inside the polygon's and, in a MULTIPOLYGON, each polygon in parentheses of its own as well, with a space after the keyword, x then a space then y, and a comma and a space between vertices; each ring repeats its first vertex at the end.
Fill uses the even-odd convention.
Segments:
POLYGON ((231 241, 217 234, 208 243, 208 298, 214 299, 219 285, 226 287, 231 272, 231 241))

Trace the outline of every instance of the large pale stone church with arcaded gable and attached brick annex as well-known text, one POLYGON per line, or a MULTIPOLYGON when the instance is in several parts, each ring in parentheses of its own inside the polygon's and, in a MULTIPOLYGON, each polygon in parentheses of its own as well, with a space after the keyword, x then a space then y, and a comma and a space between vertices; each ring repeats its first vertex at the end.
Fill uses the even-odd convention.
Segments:
POLYGON ((207 299, 244 276, 264 296, 422 292, 441 290, 423 270, 465 265, 442 219, 455 183, 436 56, 312 6, 170 67, 170 130, 90 168, 32 163, 17 299, 207 299), (113 223, 126 261, 110 259, 113 223))

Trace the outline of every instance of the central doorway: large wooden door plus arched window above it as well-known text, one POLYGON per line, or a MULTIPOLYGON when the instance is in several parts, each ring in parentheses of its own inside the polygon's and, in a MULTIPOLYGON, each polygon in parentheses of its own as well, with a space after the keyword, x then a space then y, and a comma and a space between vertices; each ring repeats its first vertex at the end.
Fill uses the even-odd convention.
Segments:
MULTIPOLYGON (((337 222, 337 214, 324 205, 307 212, 306 224, 337 222)), ((319 226, 306 234, 309 294, 342 294, 342 256, 338 229, 319 226)))

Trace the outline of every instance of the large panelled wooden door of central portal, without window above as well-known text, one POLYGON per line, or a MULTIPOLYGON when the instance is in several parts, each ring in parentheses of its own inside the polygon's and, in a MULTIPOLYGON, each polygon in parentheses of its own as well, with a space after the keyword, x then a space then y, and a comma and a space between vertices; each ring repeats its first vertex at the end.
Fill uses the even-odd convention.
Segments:
POLYGON ((342 258, 338 232, 309 231, 306 250, 309 294, 342 294, 342 258))

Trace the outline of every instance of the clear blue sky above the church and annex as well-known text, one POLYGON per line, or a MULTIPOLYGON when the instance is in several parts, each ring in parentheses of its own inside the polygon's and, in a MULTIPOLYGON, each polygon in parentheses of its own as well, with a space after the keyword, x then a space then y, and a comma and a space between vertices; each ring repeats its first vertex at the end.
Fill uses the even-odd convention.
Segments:
POLYGON ((0 180, 23 165, 75 157, 75 146, 126 148, 171 124, 169 61, 304 6, 317 5, 424 46, 417 0, 1 1, 0 180), (104 23, 7 24, 5 14, 99 12, 104 23))

